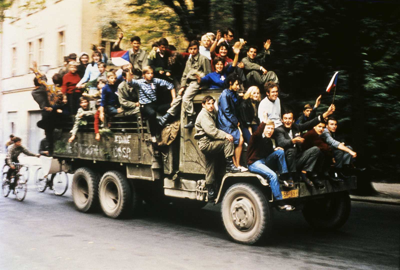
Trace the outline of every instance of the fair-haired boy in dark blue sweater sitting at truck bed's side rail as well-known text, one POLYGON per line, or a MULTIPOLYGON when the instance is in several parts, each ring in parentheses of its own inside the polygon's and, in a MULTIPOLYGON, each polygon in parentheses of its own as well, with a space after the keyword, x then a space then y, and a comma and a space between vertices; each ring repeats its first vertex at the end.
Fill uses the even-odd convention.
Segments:
POLYGON ((122 80, 118 79, 113 71, 107 73, 107 84, 103 87, 101 93, 100 120, 104 121, 104 107, 109 116, 124 112, 116 93, 121 82, 122 80))

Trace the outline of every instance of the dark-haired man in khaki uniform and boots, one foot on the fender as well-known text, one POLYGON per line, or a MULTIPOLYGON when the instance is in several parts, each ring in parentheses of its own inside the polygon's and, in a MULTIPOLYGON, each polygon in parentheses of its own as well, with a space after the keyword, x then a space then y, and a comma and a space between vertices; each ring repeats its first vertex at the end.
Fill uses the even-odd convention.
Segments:
POLYGON ((206 156, 206 188, 208 200, 216 196, 215 190, 215 157, 212 154, 224 152, 226 160, 226 172, 240 172, 241 170, 233 164, 234 138, 216 127, 216 113, 214 109, 214 98, 205 96, 202 100, 202 110, 199 112, 194 128, 194 138, 198 140, 200 151, 206 156))

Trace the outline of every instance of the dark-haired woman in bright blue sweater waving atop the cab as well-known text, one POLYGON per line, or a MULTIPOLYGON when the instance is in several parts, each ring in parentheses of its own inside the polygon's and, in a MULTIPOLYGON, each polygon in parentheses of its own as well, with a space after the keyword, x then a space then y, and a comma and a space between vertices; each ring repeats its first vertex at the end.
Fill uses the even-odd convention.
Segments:
POLYGON ((232 62, 232 65, 228 64, 225 68, 224 68, 224 62, 225 62, 224 59, 222 59, 221 57, 214 58, 213 64, 215 71, 207 74, 203 78, 200 78, 200 76, 195 75, 197 77, 198 84, 207 85, 208 88, 210 89, 216 89, 216 88, 223 89, 226 77, 235 71, 236 64, 238 63, 240 50, 235 49, 234 52, 235 52, 235 58, 232 62))

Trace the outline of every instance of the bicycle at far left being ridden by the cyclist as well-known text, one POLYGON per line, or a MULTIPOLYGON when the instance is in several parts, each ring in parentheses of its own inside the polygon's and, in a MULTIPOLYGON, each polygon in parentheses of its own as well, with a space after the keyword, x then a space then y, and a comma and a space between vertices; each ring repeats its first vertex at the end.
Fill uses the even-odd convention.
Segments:
POLYGON ((10 175, 10 179, 7 178, 8 170, 10 166, 5 164, 2 170, 2 192, 3 196, 7 197, 13 190, 17 200, 22 202, 28 191, 28 179, 29 179, 29 167, 25 164, 12 163, 15 166, 14 172, 10 175))

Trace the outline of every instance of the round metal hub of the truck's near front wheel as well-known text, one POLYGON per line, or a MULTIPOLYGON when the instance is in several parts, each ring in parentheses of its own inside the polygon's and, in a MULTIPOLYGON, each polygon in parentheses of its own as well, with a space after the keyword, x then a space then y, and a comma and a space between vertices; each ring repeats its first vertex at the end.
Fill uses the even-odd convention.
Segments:
POLYGON ((254 207, 248 198, 238 198, 231 205, 234 225, 238 230, 248 230, 255 222, 254 207))

